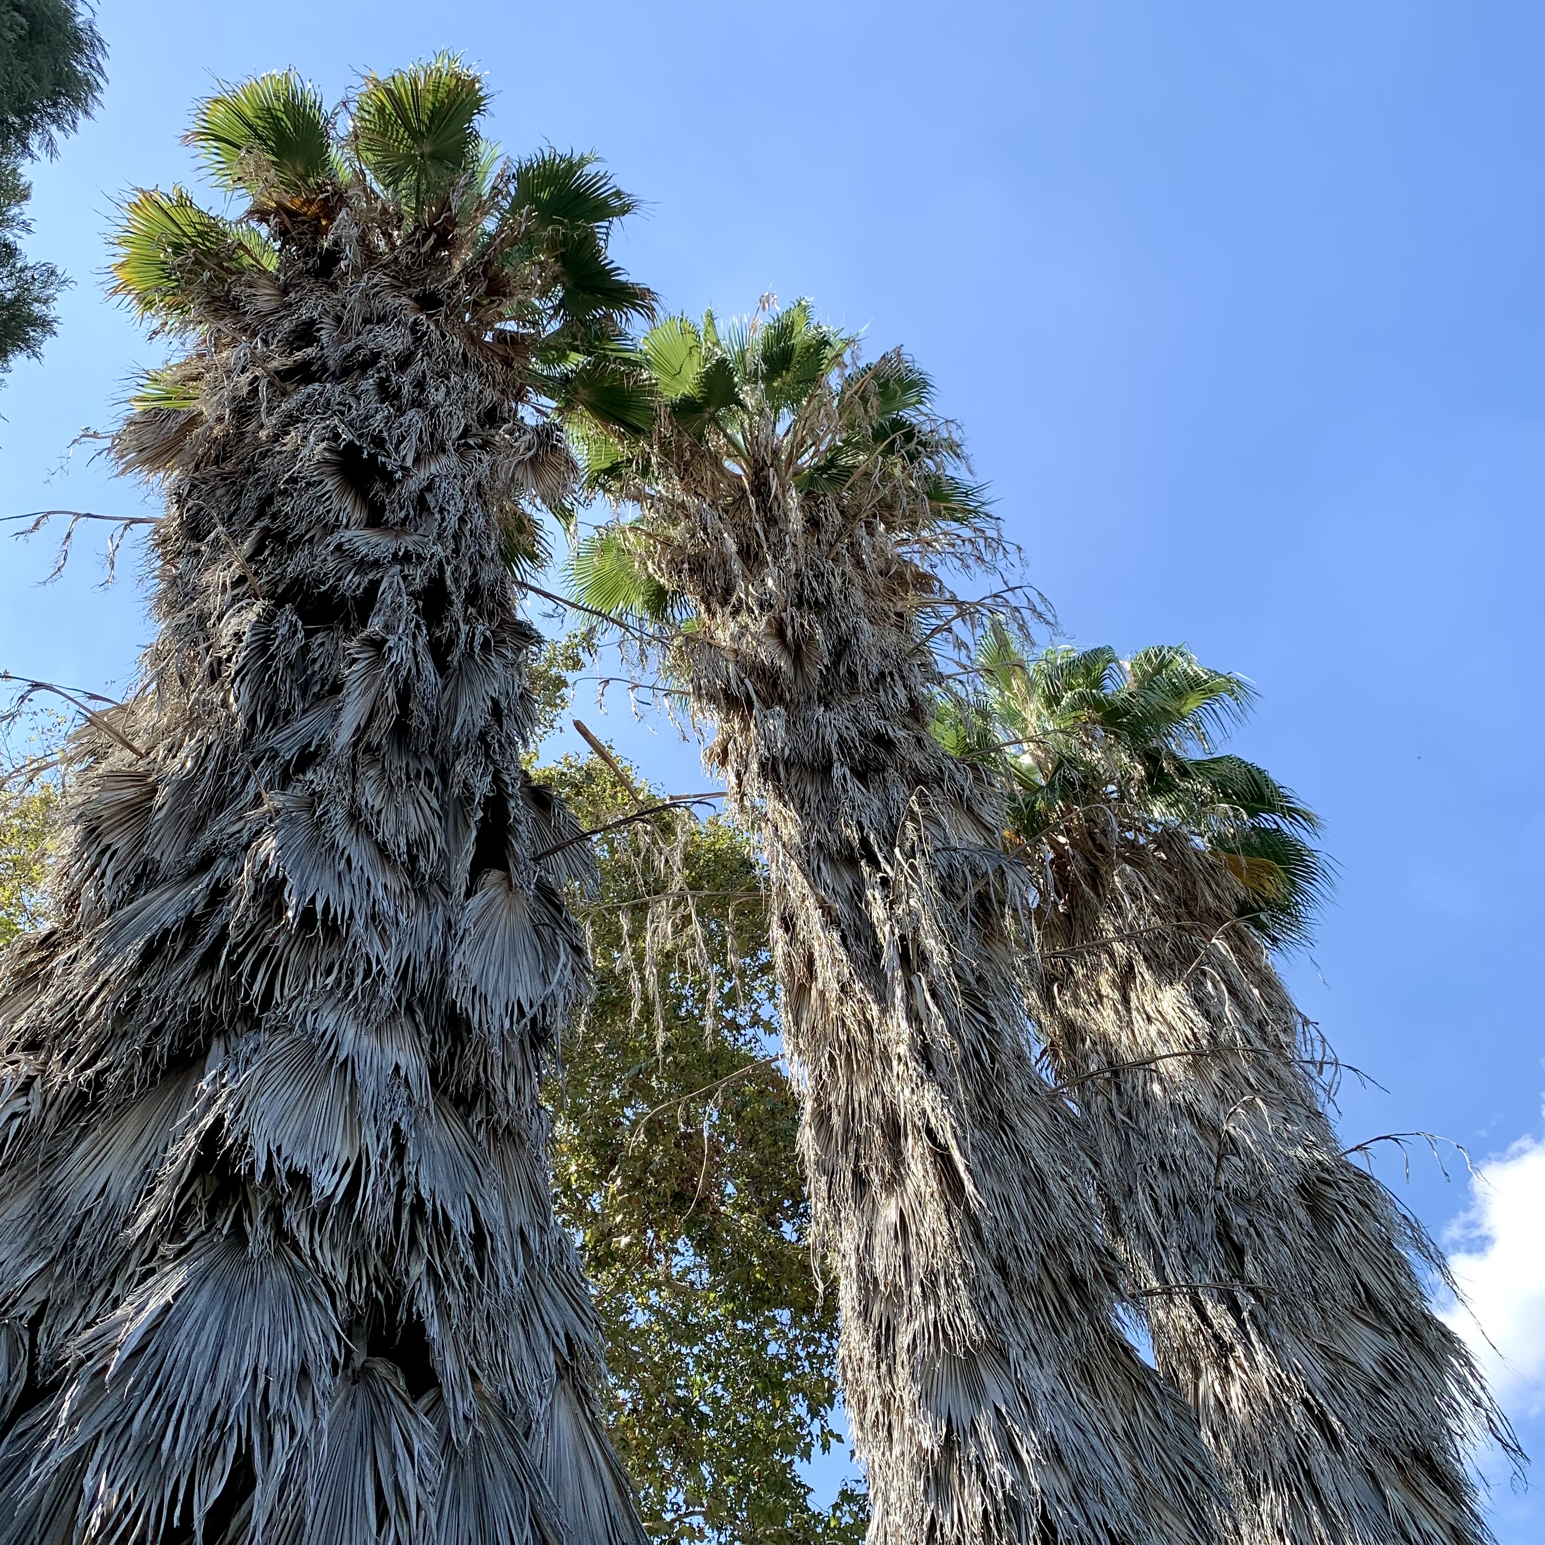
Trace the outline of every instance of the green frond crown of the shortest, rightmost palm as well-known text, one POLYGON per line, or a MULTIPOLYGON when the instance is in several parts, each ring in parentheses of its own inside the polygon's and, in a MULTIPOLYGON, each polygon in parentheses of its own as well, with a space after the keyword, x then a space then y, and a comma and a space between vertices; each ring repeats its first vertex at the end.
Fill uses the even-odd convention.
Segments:
POLYGON ((1319 819, 1265 768, 1217 751, 1255 705, 1241 675, 1183 644, 1031 654, 1004 624, 978 652, 976 697, 941 711, 956 756, 997 763, 1017 840, 1057 844, 1114 813, 1134 834, 1180 830, 1239 882, 1241 916, 1273 947, 1309 939, 1332 870, 1319 819))

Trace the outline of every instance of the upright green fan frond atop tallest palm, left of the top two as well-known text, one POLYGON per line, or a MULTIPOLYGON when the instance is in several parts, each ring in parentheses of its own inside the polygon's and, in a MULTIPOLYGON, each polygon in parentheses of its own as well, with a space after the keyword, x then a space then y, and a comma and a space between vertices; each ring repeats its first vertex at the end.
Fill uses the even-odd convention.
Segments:
POLYGON ((201 104, 184 139, 221 187, 253 196, 306 196, 335 176, 332 117, 294 70, 222 88, 201 104))

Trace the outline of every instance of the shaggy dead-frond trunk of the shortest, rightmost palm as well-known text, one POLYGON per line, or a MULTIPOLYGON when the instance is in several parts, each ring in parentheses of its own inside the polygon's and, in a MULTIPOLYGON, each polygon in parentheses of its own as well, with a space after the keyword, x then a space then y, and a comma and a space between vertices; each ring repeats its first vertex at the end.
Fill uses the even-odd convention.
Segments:
POLYGON ((1231 1537, 1488 1539, 1466 1451, 1488 1426, 1508 1435, 1412 1264, 1443 1262, 1343 1157, 1230 876, 1180 834, 1134 844, 1088 823, 1058 847, 1038 908, 1046 1046, 1089 1122, 1159 1369, 1224 1475, 1231 1537))

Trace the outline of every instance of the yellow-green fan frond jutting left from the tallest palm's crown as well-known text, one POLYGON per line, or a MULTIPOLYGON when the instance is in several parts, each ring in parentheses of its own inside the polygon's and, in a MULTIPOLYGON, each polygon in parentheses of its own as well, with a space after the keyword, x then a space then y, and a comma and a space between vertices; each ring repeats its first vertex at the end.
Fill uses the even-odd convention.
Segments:
POLYGON ((278 253, 260 232, 210 213, 179 187, 170 193, 141 188, 122 212, 113 235, 111 294, 148 320, 184 324, 209 286, 278 266, 278 253))

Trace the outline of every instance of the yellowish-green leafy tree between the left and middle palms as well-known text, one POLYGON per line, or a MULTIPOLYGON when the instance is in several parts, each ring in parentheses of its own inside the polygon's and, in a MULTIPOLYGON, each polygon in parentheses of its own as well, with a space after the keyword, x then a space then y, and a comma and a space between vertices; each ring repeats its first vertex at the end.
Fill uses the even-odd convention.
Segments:
MULTIPOLYGON (((621 771, 592 756, 538 776, 596 828, 660 799, 621 771)), ((862 1496, 820 1511, 799 1477, 840 1441, 836 1301, 811 1270, 759 865, 734 825, 680 811, 595 847, 595 1000, 552 1088, 555 1197, 596 1287, 646 1526, 857 1545, 862 1496)))

